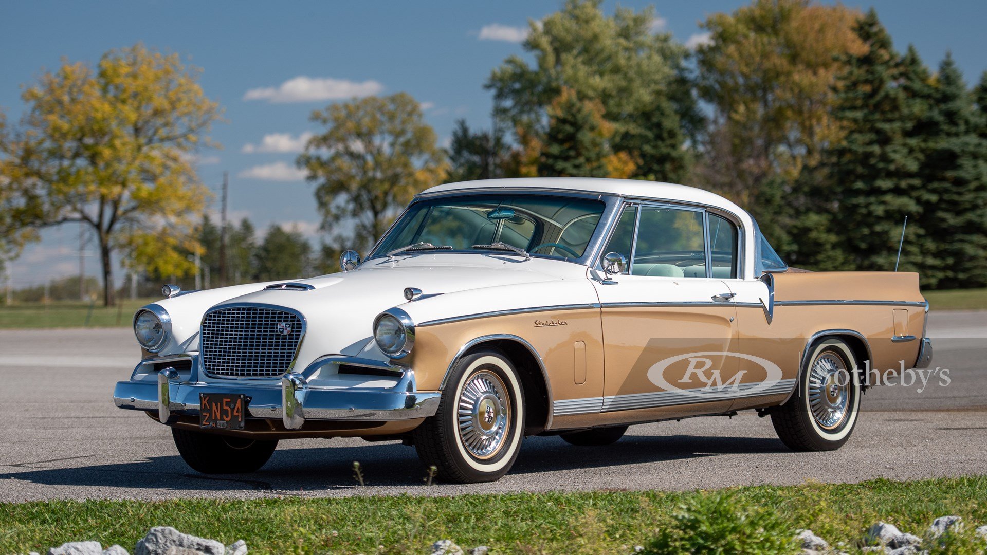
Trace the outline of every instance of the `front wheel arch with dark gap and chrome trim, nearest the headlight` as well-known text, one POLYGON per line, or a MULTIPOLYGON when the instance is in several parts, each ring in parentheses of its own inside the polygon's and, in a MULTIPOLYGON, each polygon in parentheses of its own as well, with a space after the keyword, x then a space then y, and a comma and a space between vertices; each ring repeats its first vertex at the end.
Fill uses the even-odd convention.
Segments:
POLYGON ((473 339, 459 349, 449 362, 442 376, 440 390, 444 390, 459 361, 477 350, 494 348, 502 351, 517 368, 524 392, 524 407, 527 411, 525 435, 533 436, 552 427, 552 383, 549 381, 545 362, 538 351, 523 338, 510 334, 493 334, 473 339))

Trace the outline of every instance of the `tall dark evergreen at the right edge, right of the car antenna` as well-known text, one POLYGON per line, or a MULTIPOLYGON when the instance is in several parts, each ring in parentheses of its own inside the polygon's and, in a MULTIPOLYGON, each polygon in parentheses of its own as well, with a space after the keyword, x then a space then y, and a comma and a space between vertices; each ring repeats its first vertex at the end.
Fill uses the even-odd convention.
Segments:
POLYGON ((987 139, 959 68, 947 54, 929 116, 923 227, 936 246, 940 287, 987 284, 987 139))

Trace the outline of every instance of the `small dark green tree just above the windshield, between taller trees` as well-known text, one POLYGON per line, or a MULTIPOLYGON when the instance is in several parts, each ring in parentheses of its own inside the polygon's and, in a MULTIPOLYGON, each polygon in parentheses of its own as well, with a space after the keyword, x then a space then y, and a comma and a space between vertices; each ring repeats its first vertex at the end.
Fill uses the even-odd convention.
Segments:
POLYGON ((503 133, 471 131, 465 119, 457 119, 452 130, 449 148, 449 173, 451 182, 493 179, 500 176, 506 144, 503 133))

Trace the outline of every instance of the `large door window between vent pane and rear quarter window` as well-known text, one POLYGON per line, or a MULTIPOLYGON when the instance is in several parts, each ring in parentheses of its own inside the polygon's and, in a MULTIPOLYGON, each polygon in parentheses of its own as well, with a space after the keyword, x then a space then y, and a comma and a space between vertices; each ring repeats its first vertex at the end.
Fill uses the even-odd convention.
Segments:
POLYGON ((706 278, 703 212, 643 206, 633 276, 706 278))

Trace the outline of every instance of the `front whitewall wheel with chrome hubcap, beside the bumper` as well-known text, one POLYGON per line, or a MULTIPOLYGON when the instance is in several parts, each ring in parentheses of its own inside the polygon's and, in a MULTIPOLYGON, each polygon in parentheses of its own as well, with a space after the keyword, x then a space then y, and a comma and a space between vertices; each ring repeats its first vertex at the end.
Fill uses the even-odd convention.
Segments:
POLYGON ((517 370, 502 352, 484 349, 463 357, 435 416, 415 431, 418 458, 451 482, 497 480, 521 450, 523 399, 517 370))

